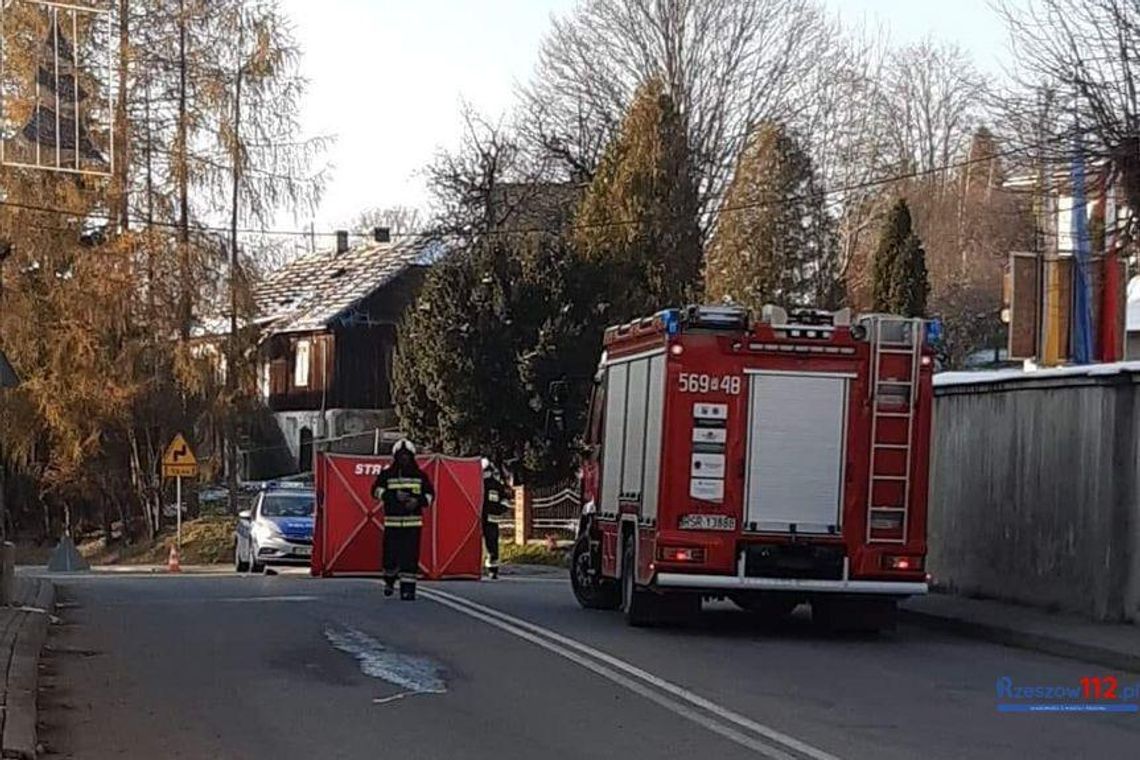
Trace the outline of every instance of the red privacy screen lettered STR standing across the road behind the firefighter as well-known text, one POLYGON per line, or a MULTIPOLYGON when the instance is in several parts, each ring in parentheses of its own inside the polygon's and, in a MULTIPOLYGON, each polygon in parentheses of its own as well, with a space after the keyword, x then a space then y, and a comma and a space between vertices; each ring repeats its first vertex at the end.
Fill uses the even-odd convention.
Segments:
MULTIPOLYGON (((391 457, 317 455, 317 524, 311 573, 365 575, 381 572, 384 514, 372 483, 391 457)), ((424 512, 420 571, 425 578, 479 578, 479 528, 483 475, 479 459, 423 456, 416 459, 435 487, 435 502, 424 512)))

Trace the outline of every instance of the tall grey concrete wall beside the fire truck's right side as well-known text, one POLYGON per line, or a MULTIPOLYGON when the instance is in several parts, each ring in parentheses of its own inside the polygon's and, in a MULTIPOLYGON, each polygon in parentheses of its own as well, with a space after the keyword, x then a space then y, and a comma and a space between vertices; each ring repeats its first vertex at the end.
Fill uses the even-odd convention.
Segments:
POLYGON ((1140 366, 1115 367, 938 382, 936 585, 1140 622, 1140 366))

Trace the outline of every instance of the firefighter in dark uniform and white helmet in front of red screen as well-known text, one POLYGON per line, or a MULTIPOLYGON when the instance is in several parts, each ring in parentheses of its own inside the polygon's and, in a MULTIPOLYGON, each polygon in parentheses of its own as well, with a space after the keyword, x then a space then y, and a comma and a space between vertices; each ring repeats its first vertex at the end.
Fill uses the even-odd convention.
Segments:
POLYGON ((400 598, 416 598, 423 510, 435 491, 416 464, 416 447, 402 439, 392 447, 392 464, 381 471, 372 493, 384 508, 384 596, 400 581, 400 598))

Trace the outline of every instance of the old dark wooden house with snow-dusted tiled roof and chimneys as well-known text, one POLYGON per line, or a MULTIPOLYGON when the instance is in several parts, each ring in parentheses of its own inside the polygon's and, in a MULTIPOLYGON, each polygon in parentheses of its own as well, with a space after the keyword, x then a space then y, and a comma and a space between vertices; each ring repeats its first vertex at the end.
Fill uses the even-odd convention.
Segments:
POLYGON ((315 440, 370 451, 374 432, 394 426, 396 328, 440 254, 426 238, 349 246, 342 234, 255 289, 261 394, 300 469, 315 440))

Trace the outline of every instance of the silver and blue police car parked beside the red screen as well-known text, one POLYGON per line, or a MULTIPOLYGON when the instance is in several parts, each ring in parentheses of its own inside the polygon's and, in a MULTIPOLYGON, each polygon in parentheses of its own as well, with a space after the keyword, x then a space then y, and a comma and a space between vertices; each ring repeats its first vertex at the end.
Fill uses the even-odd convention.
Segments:
POLYGON ((262 485, 253 508, 237 515, 234 569, 261 572, 266 565, 309 564, 316 504, 311 485, 262 485))

